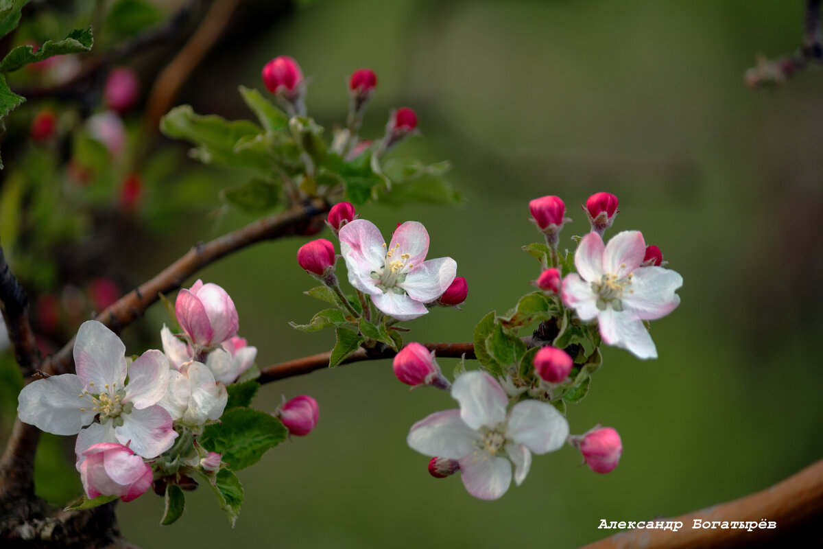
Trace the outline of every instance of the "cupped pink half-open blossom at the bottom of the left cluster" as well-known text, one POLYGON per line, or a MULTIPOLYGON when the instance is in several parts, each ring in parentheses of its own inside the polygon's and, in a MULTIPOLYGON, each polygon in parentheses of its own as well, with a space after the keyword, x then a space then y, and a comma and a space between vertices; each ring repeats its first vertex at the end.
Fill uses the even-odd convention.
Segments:
POLYGON ((119 495, 131 501, 151 487, 151 467, 123 444, 102 442, 83 451, 80 479, 90 500, 119 495))

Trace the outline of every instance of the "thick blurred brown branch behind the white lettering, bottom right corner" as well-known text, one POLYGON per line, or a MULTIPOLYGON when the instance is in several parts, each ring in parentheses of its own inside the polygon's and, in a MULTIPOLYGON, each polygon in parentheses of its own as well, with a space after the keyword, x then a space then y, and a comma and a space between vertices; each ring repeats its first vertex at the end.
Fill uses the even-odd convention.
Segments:
MULTIPOLYGON (((581 549, 724 549, 726 547, 817 547, 821 541, 823 518, 823 460, 812 463, 792 477, 767 488, 729 501, 683 514, 674 519, 683 527, 678 532, 663 529, 636 529, 591 543, 581 549), (774 529, 692 528, 700 523, 761 520, 777 523, 774 529), (797 542, 797 544, 793 543, 797 542), (802 543, 801 543, 802 542, 802 543)), ((655 519, 658 522, 661 519, 655 519)), ((719 526, 719 525, 718 525, 719 526)))

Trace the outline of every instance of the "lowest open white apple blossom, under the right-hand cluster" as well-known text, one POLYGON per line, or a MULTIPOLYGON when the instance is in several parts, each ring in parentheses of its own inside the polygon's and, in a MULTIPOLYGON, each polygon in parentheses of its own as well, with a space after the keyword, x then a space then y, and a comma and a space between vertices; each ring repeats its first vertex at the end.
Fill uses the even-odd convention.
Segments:
POLYGON ((556 407, 525 400, 506 413, 509 397, 491 375, 474 370, 452 386, 459 409, 435 412, 418 421, 407 443, 421 454, 457 460, 463 485, 481 500, 496 500, 514 482, 523 482, 532 452, 546 454, 565 443, 569 423, 556 407))

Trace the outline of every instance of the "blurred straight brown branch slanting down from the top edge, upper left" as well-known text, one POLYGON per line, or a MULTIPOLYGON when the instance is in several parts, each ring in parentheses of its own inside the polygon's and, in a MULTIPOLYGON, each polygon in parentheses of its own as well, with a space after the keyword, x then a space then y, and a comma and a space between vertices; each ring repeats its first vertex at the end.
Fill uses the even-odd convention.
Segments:
POLYGON ((146 136, 156 133, 160 118, 169 112, 180 87, 220 39, 239 3, 240 0, 215 0, 183 49, 160 72, 146 101, 143 115, 146 136))

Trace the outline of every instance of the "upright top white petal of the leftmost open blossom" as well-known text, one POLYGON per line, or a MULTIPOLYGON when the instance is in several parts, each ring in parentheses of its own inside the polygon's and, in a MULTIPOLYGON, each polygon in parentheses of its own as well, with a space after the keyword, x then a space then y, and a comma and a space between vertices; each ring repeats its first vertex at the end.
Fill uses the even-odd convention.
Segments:
POLYGON ((74 341, 77 375, 89 393, 102 393, 105 385, 123 387, 126 379, 126 346, 114 332, 96 320, 87 320, 74 341), (91 384, 94 384, 90 387, 91 384))

